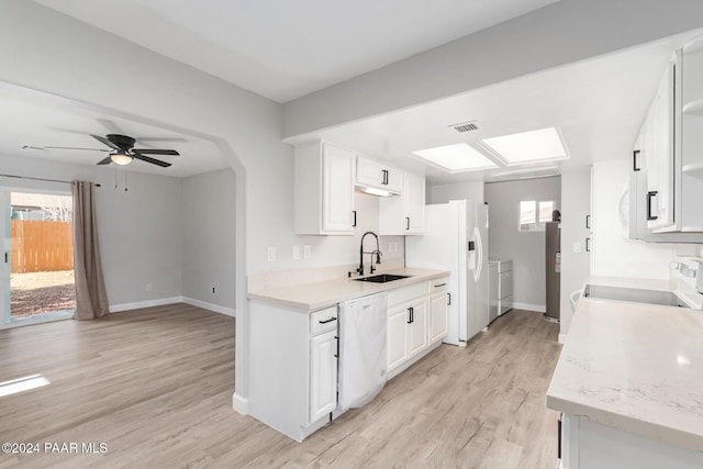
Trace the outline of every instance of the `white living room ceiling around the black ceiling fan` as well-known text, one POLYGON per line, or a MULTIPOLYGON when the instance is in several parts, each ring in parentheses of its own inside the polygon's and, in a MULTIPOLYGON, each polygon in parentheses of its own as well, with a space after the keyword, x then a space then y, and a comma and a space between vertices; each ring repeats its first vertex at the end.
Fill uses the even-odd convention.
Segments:
MULTIPOLYGON (((179 156, 154 155, 171 163, 161 168, 134 160, 131 171, 187 177, 226 168, 227 163, 210 141, 156 125, 135 122, 89 109, 58 97, 0 83, 0 154, 42 158, 78 165, 96 165, 109 149, 89 134, 122 134, 136 138, 137 148, 172 148, 179 156), (25 148, 23 146, 36 147, 25 148), (94 148, 94 150, 44 149, 45 146, 94 148)), ((115 165, 102 166, 104 170, 115 165)))

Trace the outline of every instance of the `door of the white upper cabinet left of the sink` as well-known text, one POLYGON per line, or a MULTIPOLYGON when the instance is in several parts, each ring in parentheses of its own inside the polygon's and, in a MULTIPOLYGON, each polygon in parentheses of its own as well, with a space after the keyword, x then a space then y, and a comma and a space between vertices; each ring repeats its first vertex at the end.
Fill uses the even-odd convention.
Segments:
POLYGON ((325 233, 354 233, 353 152, 324 144, 322 154, 322 228, 325 233))

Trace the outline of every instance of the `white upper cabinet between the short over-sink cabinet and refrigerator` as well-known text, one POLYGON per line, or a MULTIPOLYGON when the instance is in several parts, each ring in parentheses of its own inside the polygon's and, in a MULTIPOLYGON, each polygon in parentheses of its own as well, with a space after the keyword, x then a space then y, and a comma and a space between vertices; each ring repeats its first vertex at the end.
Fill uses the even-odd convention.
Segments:
POLYGON ((379 205, 379 234, 421 235, 425 232, 425 178, 405 172, 403 193, 383 198, 379 205))

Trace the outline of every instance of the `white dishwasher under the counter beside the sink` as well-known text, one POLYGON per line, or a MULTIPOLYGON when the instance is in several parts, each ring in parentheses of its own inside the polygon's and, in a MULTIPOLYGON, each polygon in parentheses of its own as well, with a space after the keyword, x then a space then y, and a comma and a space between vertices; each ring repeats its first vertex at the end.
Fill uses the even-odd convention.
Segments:
POLYGON ((386 292, 339 303, 337 412, 367 404, 386 386, 386 292))

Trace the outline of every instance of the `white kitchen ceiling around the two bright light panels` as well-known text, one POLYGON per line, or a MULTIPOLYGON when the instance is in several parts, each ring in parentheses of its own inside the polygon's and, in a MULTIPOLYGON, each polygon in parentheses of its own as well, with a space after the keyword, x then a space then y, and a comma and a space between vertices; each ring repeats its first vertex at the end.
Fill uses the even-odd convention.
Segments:
MULTIPOLYGON (((414 159, 413 150, 556 126, 570 159, 557 172, 596 160, 627 158, 672 52, 694 33, 334 129, 288 138, 293 145, 323 138, 424 172, 432 183, 483 180, 515 171, 499 168, 450 175, 414 159), (478 131, 449 125, 477 121, 478 131)), ((524 176, 544 175, 526 166, 524 176)), ((554 172, 551 172, 554 174, 554 172)))

